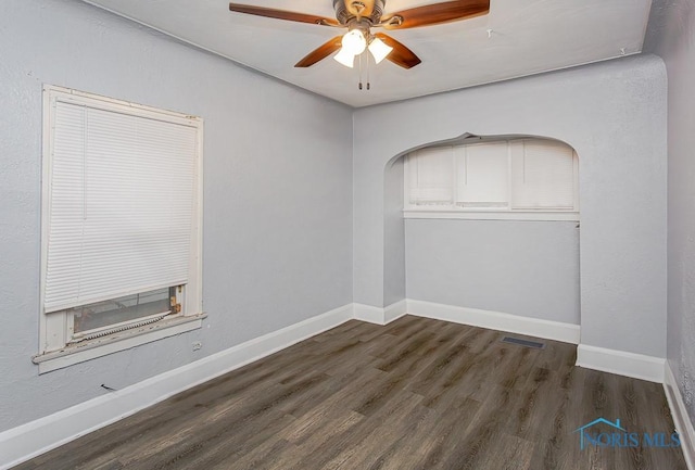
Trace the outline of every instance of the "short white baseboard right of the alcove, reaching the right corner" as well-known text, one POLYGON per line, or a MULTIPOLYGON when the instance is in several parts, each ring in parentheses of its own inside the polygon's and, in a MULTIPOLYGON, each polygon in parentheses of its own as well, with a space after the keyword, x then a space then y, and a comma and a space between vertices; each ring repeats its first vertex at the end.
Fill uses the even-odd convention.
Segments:
POLYGON ((587 369, 617 373, 649 382, 664 383, 666 359, 624 351, 580 344, 577 346, 577 365, 587 369))

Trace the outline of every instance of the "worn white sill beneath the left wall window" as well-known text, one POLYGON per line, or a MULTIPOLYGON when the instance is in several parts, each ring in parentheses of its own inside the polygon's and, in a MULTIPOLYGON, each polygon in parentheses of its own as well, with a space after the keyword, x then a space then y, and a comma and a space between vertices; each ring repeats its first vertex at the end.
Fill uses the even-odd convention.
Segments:
POLYGON ((39 374, 51 372, 85 360, 195 330, 202 327, 205 317, 207 317, 207 314, 203 313, 162 320, 97 340, 70 344, 60 351, 36 355, 31 358, 31 361, 39 366, 39 374))

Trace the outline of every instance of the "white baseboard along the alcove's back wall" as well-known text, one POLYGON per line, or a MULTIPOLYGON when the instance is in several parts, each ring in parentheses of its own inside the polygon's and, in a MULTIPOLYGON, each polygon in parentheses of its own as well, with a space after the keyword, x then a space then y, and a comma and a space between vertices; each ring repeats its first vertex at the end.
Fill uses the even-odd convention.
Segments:
POLYGON ((510 333, 527 334, 546 340, 563 341, 565 343, 579 343, 579 325, 541 320, 539 318, 521 317, 478 308, 456 307, 433 302, 412 301, 409 298, 407 300, 407 313, 418 317, 470 325, 472 327, 508 331, 510 333))

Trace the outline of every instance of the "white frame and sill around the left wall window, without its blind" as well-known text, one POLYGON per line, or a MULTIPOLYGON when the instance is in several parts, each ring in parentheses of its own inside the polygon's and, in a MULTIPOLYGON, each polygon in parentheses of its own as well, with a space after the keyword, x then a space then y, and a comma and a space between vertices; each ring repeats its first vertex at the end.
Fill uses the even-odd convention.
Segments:
POLYGON ((136 104, 51 85, 43 86, 43 136, 42 136, 42 195, 41 195, 41 270, 40 270, 40 319, 39 353, 33 357, 39 373, 93 359, 96 357, 127 350, 163 338, 180 334, 202 327, 202 188, 203 188, 203 120, 172 111, 136 104), (188 282, 184 289, 182 313, 165 317, 149 325, 141 325, 100 338, 71 343, 68 314, 45 312, 45 290, 48 262, 49 203, 53 142, 53 119, 56 100, 114 111, 136 117, 152 117, 193 127, 197 131, 197 165, 193 179, 194 211, 191 224, 191 250, 188 282))

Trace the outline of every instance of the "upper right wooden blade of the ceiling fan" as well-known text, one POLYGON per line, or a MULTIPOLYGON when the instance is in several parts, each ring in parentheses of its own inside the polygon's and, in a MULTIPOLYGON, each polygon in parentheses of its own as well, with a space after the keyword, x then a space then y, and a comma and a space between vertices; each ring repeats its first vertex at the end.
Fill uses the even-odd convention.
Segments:
POLYGON ((383 15, 381 23, 386 23, 387 29, 417 28, 484 15, 489 11, 490 0, 456 0, 383 15))

